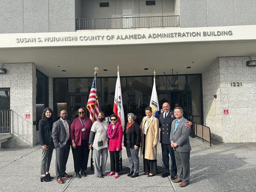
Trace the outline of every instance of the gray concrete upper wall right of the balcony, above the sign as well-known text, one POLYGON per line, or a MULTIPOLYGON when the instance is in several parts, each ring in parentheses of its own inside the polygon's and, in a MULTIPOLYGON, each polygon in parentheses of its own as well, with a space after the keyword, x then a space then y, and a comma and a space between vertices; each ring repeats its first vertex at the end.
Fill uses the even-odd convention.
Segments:
POLYGON ((180 27, 255 25, 254 0, 180 0, 180 27))

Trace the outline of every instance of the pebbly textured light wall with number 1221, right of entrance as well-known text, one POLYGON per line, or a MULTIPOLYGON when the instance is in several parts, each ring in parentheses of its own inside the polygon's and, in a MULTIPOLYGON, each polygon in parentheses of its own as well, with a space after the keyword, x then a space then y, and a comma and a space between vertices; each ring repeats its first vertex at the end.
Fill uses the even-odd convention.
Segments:
POLYGON ((202 74, 204 124, 221 142, 256 142, 256 67, 246 66, 247 60, 250 58, 219 58, 202 74), (242 86, 231 86, 233 82, 242 86), (215 100, 215 116, 208 114, 208 100, 215 100), (244 121, 248 118, 250 123, 244 121))

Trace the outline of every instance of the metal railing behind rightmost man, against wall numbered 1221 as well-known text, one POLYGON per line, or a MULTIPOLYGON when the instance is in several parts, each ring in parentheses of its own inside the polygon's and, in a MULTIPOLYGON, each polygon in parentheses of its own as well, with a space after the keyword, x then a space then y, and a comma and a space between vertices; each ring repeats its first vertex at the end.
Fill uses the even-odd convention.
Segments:
POLYGON ((208 141, 210 143, 210 146, 212 146, 210 127, 207 127, 205 125, 198 124, 198 123, 193 123, 193 128, 194 128, 194 134, 197 137, 202 138, 203 141, 208 141))

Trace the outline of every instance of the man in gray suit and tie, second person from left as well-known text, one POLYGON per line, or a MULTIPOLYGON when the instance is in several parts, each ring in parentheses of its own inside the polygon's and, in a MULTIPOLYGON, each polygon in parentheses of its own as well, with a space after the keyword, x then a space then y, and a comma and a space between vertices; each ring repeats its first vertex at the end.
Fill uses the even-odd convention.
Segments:
POLYGON ((60 119, 52 125, 52 140, 56 149, 55 171, 58 183, 64 183, 61 177, 72 177, 66 173, 66 164, 70 150, 70 121, 66 110, 60 111, 60 119))

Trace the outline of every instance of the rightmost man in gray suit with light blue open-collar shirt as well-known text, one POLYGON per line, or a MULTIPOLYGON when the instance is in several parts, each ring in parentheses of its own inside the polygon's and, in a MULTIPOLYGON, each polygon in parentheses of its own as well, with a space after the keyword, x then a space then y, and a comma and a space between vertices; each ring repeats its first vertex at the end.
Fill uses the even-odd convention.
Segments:
POLYGON ((181 182, 179 186, 185 187, 189 183, 190 173, 189 156, 191 147, 188 139, 190 129, 185 126, 187 119, 183 117, 183 109, 181 107, 174 108, 174 116, 176 120, 172 121, 170 141, 175 154, 178 178, 173 182, 181 182))

